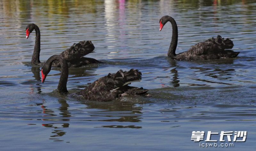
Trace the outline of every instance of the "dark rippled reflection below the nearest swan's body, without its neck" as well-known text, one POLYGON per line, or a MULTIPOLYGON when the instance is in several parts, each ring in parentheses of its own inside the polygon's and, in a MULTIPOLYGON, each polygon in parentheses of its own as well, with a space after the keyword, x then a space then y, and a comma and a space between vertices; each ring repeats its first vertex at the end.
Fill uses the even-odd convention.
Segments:
POLYGON ((92 117, 98 117, 98 119, 88 117, 86 121, 110 122, 108 125, 101 126, 108 128, 142 128, 141 126, 135 125, 135 123, 141 122, 142 107, 132 102, 85 102, 84 104, 87 105, 86 110, 88 110, 87 112, 92 117), (115 122, 121 122, 122 124, 113 125, 115 122), (126 125, 126 122, 133 124, 126 125))

